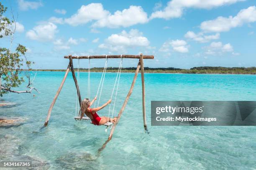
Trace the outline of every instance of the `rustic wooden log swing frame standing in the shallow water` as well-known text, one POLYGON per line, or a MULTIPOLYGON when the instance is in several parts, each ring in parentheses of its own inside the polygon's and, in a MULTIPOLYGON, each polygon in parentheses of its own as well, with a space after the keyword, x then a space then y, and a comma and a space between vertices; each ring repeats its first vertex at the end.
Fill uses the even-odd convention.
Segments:
POLYGON ((125 109, 125 106, 128 103, 128 100, 131 96, 131 93, 133 92, 133 87, 135 85, 135 82, 136 82, 136 79, 137 79, 138 72, 139 72, 140 68, 141 68, 141 84, 142 84, 143 125, 144 125, 144 130, 148 131, 147 130, 147 124, 146 124, 145 81, 144 81, 143 59, 154 59, 154 55, 143 55, 143 54, 140 54, 140 55, 90 55, 90 56, 72 56, 72 55, 69 55, 69 56, 64 56, 64 58, 69 59, 69 64, 68 64, 67 70, 65 72, 64 78, 61 81, 61 85, 59 86, 59 89, 57 90, 56 95, 54 96, 54 100, 51 102, 51 105, 49 107, 48 114, 47 114, 46 120, 44 122, 44 127, 46 127, 49 123, 49 119, 50 119, 50 116, 51 116, 51 110, 53 109, 54 104, 55 104, 55 102, 56 102, 56 100, 59 96, 59 93, 61 92, 61 89, 64 85, 64 82, 67 79, 67 75, 69 73, 69 70, 71 70, 71 72, 72 72, 72 77, 74 79, 75 87, 77 88, 77 96, 78 96, 78 99, 79 99, 80 107, 82 105, 82 99, 81 99, 81 95, 80 95, 79 85, 77 83, 77 78, 76 78, 75 71, 74 71, 74 66, 73 66, 73 59, 132 58, 132 59, 139 59, 138 65, 137 65, 137 68, 136 68, 136 72, 135 72, 135 75, 133 77, 133 82, 132 82, 130 90, 129 90, 126 98, 125 98, 125 101, 123 102, 123 106, 121 107, 120 111, 118 112, 118 117, 117 117, 115 123, 113 123, 113 125, 112 125, 108 140, 102 145, 102 147, 98 151, 100 152, 101 150, 103 150, 105 148, 106 144, 112 139, 115 127, 118 124, 118 122, 120 120, 120 117, 123 113, 123 110, 125 109))

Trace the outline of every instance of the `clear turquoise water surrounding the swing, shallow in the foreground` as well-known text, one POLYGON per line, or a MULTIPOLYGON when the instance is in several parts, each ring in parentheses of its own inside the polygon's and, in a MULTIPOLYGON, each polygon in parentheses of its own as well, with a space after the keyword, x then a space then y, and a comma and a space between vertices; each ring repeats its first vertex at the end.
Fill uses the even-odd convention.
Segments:
MULTIPOLYGON (((111 95, 116 73, 107 73, 101 103, 111 95)), ((122 73, 116 112, 131 86, 133 73, 122 73)), ((141 77, 115 129, 113 139, 97 157, 108 138, 105 127, 74 121, 76 91, 71 73, 52 110, 47 111, 64 72, 38 72, 34 82, 41 92, 8 94, 0 100, 1 117, 18 118, 20 126, 0 128, 0 160, 28 160, 37 169, 255 169, 256 127, 156 127, 150 125, 151 100, 256 100, 255 75, 145 74, 149 134, 144 133, 141 77)), ((91 73, 91 97, 101 73, 91 73)), ((80 73, 82 97, 87 97, 87 72, 80 73)), ((108 107, 99 112, 108 115, 108 107)))

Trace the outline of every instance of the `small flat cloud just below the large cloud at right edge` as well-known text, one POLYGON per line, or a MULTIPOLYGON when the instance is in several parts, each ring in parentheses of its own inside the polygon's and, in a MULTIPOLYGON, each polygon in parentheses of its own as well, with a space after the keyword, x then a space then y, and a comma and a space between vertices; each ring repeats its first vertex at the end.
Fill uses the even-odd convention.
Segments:
POLYGON ((188 31, 184 37, 203 43, 209 42, 210 40, 218 40, 220 38, 220 33, 216 33, 215 35, 204 35, 202 32, 196 34, 195 32, 188 31))

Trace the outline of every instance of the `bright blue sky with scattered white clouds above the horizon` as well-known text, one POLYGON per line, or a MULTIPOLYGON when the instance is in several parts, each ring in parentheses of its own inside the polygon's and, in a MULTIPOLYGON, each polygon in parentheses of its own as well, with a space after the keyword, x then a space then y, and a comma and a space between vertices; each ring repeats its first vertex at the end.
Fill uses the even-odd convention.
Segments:
MULTIPOLYGON (((145 67, 256 66, 255 0, 4 0, 13 48, 34 69, 65 69, 65 55, 154 55, 145 67)), ((10 47, 10 37, 0 40, 10 47)), ((118 67, 119 59, 108 66, 118 67)), ((103 67, 104 60, 91 61, 103 67)), ((123 67, 136 67, 125 59, 123 67)), ((74 61, 76 67, 77 61, 74 61)), ((88 60, 80 61, 87 68, 88 60)))

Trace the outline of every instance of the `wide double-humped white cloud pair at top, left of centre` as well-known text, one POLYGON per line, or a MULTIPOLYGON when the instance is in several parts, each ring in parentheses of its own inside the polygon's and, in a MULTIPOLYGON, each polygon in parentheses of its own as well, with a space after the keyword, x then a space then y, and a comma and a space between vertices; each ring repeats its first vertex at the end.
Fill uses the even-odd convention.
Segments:
POLYGON ((111 14, 105 10, 101 3, 90 3, 82 5, 80 9, 70 18, 65 18, 64 22, 77 26, 95 21, 92 24, 93 28, 118 28, 129 27, 135 24, 143 24, 148 22, 147 13, 140 6, 131 5, 128 9, 122 11, 117 10, 111 14))

